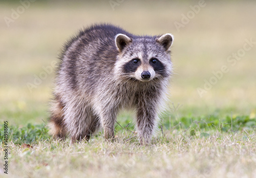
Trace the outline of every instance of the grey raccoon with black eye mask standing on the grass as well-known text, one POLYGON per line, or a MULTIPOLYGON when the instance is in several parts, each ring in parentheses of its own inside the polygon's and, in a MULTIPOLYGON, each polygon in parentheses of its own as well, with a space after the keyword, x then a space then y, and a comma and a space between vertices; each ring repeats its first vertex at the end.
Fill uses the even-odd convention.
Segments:
POLYGON ((140 143, 150 143, 172 75, 172 34, 136 36, 112 24, 83 29, 65 44, 57 70, 50 133, 72 142, 103 128, 114 138, 121 109, 136 113, 140 143))

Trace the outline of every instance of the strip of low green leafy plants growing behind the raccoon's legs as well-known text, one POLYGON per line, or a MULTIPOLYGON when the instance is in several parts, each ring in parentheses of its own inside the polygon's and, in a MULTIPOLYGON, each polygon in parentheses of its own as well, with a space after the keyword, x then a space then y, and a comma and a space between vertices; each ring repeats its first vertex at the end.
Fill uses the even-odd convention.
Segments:
MULTIPOLYGON (((163 116, 163 120, 159 125, 159 130, 163 132, 168 131, 179 131, 185 134, 190 134, 190 136, 210 136, 216 132, 221 134, 233 134, 237 132, 251 132, 256 130, 256 118, 250 118, 250 116, 236 116, 231 117, 226 116, 220 119, 217 115, 210 115, 208 117, 181 117, 176 120, 168 120, 170 115, 163 116)), ((115 125, 116 134, 120 134, 127 131, 135 132, 134 124, 131 123, 131 117, 129 114, 121 115, 120 121, 115 125), (125 128, 125 130, 124 130, 125 128)), ((8 142, 13 142, 13 144, 36 144, 38 141, 44 141, 51 139, 48 132, 47 125, 44 124, 31 124, 28 123, 26 126, 19 128, 18 126, 9 126, 8 131, 8 142)), ((95 137, 101 136, 100 132, 95 137)), ((160 136, 159 132, 157 136, 160 136)), ((0 128, 0 142, 4 140, 4 125, 0 128)))

